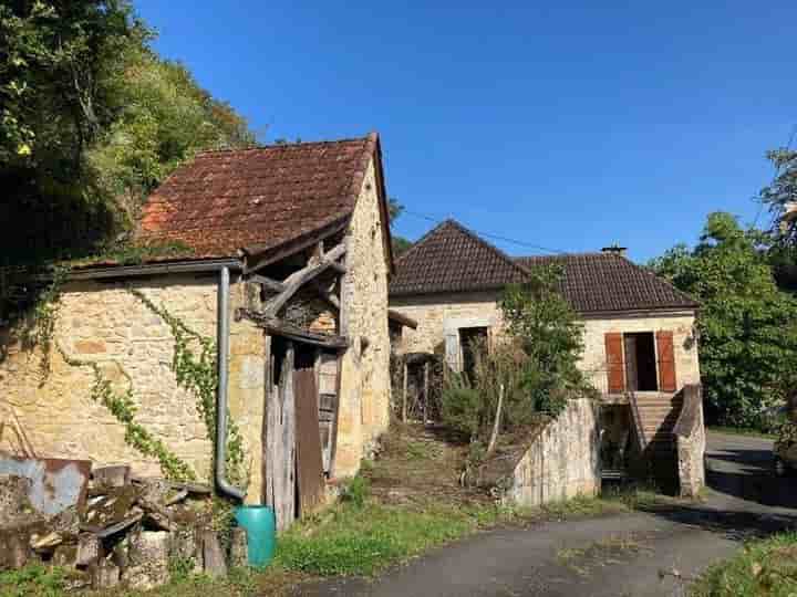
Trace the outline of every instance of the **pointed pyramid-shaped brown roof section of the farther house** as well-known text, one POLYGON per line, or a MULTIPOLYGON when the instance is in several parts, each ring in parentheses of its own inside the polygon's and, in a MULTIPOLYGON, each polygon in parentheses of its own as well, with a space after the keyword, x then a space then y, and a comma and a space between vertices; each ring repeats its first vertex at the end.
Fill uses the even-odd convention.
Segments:
POLYGON ((499 289, 528 275, 511 258, 454 220, 446 220, 395 262, 390 294, 499 289))

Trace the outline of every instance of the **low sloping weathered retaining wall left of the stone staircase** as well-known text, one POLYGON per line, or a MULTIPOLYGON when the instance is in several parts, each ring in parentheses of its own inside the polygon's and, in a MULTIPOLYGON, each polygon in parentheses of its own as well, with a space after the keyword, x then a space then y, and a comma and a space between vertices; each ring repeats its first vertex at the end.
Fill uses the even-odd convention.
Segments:
POLYGON ((505 500, 538 506, 600 492, 599 406, 568 402, 534 440, 515 467, 505 500))

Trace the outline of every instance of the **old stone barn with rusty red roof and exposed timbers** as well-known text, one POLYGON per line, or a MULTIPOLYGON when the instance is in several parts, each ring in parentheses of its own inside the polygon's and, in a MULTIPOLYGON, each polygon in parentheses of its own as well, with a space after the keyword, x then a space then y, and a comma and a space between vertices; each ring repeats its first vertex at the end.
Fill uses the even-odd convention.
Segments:
MULTIPOLYGON (((170 250, 73 268, 46 345, 2 331, 0 450, 142 475, 162 474, 165 452, 208 480, 216 397, 197 371, 216 366, 247 502, 282 498, 287 520, 293 482, 311 507, 324 476, 354 474, 390 409, 377 136, 199 154, 148 198, 138 241, 170 250), (113 397, 162 449, 135 446, 113 397)), ((224 488, 231 471, 216 473, 224 488)))

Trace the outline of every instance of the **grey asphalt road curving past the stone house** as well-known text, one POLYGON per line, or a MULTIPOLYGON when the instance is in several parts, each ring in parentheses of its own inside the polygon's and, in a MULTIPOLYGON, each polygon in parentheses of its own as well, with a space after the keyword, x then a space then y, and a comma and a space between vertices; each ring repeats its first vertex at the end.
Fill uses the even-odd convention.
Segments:
POLYGON ((303 586, 303 596, 671 597, 746 537, 794 525, 797 481, 770 472, 772 442, 711 433, 705 503, 483 533, 374 583, 303 586), (663 574, 662 574, 663 573, 663 574), (681 578, 679 578, 679 576, 681 578))

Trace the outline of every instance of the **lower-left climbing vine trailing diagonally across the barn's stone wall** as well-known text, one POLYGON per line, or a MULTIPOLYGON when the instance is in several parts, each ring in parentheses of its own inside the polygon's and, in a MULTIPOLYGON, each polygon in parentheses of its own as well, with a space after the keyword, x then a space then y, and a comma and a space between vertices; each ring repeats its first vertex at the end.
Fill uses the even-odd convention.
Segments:
POLYGON ((111 381, 103 375, 100 365, 89 360, 79 360, 70 357, 60 346, 59 352, 63 359, 73 367, 91 367, 94 374, 94 385, 91 388, 91 398, 103 405, 113 417, 125 428, 125 442, 151 458, 156 458, 164 475, 172 481, 196 481, 196 474, 192 468, 172 452, 166 444, 141 423, 135 421, 136 406, 133 400, 132 380, 127 389, 117 392, 113 389, 111 381))

